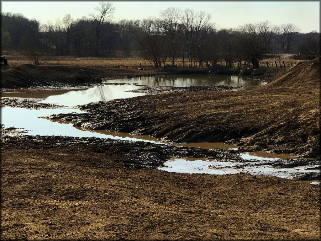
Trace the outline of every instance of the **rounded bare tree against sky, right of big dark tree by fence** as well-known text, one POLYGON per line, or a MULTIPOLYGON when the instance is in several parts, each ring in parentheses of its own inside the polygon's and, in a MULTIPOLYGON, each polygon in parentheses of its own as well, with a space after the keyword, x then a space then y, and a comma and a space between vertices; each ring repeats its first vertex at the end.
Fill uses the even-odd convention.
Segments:
POLYGON ((295 44, 299 28, 292 23, 282 24, 276 30, 275 41, 282 48, 283 53, 289 53, 295 44))

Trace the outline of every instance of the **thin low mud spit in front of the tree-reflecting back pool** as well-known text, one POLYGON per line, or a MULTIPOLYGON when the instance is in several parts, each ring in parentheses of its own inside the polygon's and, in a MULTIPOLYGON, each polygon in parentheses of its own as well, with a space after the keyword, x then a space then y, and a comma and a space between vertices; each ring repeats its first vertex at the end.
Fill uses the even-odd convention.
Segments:
POLYGON ((151 87, 151 86, 143 86, 137 90, 130 90, 128 92, 134 93, 148 93, 148 94, 160 94, 160 93, 168 93, 168 92, 186 92, 186 91, 227 91, 227 90, 237 90, 242 86, 231 87, 225 85, 208 85, 208 86, 188 86, 188 87, 177 87, 177 86, 159 86, 159 87, 151 87))

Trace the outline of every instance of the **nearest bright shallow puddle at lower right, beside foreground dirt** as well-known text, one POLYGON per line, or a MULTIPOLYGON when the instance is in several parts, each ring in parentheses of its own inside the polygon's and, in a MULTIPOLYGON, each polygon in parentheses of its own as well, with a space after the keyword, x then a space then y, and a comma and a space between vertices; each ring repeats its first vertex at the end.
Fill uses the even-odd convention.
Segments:
MULTIPOLYGON (((242 154, 241 154, 242 156, 242 154)), ((177 173, 206 173, 206 174, 235 174, 248 173, 252 175, 271 175, 282 178, 291 178, 298 173, 317 173, 316 170, 305 170, 307 166, 293 168, 274 168, 271 165, 264 165, 267 159, 258 158, 257 162, 229 162, 216 161, 206 158, 176 158, 172 157, 164 163, 165 167, 159 170, 177 173)), ((254 159, 254 158, 253 158, 254 159)), ((276 158, 269 158, 275 160, 276 158)), ((246 159, 245 159, 246 160, 246 159)), ((311 166, 312 167, 312 166, 311 166)))

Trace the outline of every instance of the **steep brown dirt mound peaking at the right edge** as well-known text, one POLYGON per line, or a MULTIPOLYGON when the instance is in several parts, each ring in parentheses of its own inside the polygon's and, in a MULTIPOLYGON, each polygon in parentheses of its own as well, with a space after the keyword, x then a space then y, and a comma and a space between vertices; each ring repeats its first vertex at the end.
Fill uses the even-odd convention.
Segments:
POLYGON ((290 69, 279 72, 273 81, 261 86, 261 89, 288 87, 288 86, 311 86, 320 83, 320 56, 311 61, 299 62, 290 69))

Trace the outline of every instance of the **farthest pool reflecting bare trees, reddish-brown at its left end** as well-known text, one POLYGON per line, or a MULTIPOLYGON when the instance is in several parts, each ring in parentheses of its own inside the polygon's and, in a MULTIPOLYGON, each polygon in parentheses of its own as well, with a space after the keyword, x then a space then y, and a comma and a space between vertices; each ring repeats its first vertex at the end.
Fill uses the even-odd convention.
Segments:
POLYGON ((261 86, 263 81, 248 79, 244 76, 208 76, 208 75, 179 75, 179 76, 145 76, 131 79, 114 79, 105 83, 128 83, 130 85, 99 85, 84 89, 37 90, 37 89, 10 89, 2 91, 3 97, 21 97, 41 99, 38 103, 49 103, 64 106, 82 105, 97 101, 110 101, 113 99, 130 98, 145 93, 127 92, 140 88, 139 85, 148 86, 261 86))

